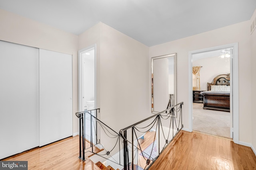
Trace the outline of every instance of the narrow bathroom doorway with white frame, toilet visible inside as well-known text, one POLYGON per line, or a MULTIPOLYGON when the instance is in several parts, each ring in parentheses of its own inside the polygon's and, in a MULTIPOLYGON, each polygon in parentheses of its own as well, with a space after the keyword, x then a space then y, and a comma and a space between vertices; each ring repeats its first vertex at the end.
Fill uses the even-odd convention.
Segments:
POLYGON ((78 108, 85 113, 85 138, 96 143, 96 45, 78 51, 78 108), (91 115, 90 115, 91 113, 91 115), (91 122, 91 120, 94 120, 91 122), (91 135, 92 134, 92 135, 91 135))

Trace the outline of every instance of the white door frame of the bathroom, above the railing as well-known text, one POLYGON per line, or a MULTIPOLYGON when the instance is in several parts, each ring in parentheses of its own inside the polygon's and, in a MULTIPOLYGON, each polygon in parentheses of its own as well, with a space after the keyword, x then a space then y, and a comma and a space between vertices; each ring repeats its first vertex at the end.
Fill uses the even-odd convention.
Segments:
POLYGON ((84 111, 84 99, 83 95, 84 94, 84 64, 83 64, 83 58, 82 58, 82 53, 85 53, 86 51, 90 51, 94 49, 94 106, 97 108, 97 88, 96 88, 96 44, 90 45, 84 49, 80 49, 78 51, 78 111, 84 111))

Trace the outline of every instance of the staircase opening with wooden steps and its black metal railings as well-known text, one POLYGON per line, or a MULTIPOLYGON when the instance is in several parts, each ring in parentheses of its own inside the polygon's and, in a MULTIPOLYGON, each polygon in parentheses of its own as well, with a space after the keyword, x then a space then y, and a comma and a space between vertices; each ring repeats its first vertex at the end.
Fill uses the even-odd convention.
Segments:
POLYGON ((175 106, 168 107, 162 112, 121 129, 119 133, 97 118, 100 109, 76 112, 76 116, 79 118, 80 136, 78 158, 94 162, 90 168, 98 170, 149 169, 183 128, 182 105, 183 102, 180 102, 175 106), (85 122, 88 117, 90 123, 85 122), (85 137, 85 130, 90 131, 90 136, 87 137, 88 141, 85 137), (153 131, 155 132, 153 133, 153 131), (147 133, 153 135, 145 137, 147 133), (148 140, 145 140, 146 138, 148 140), (141 143, 141 141, 143 142, 141 143), (140 152, 144 154, 140 154, 140 152))

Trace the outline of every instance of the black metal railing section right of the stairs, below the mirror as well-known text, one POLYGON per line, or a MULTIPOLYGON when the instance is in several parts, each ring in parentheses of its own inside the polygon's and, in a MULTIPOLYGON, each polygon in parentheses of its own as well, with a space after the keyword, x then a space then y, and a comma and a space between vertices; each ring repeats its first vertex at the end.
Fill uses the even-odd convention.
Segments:
POLYGON ((134 123, 119 134, 124 141, 124 170, 148 169, 183 128, 183 102, 134 123), (137 166, 137 167, 136 167, 137 166))

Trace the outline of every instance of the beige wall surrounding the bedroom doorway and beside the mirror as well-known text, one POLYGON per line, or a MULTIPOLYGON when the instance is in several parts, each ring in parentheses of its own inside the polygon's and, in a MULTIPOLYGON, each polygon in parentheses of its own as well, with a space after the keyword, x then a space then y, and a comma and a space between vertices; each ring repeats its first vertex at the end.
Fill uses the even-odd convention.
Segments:
POLYGON ((251 122, 251 66, 249 21, 215 29, 198 35, 150 47, 149 57, 177 53, 178 103, 182 107, 184 128, 188 129, 188 53, 220 45, 236 43, 239 46, 239 141, 252 142, 251 122), (246 84, 244 82, 247 82, 246 84))

